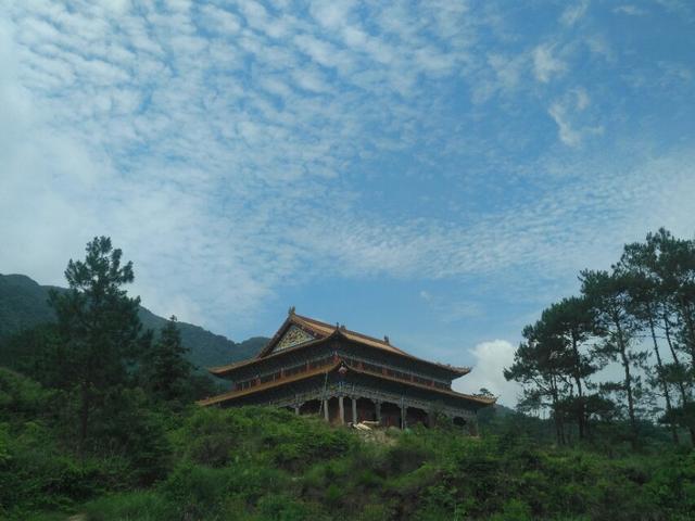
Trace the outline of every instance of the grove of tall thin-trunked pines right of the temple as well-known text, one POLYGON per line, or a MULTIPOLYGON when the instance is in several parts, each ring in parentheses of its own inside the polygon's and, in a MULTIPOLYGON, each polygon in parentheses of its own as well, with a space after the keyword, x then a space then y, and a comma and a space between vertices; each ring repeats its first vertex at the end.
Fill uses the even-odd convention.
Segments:
POLYGON ((657 423, 695 445, 695 241, 659 229, 579 280, 504 370, 522 385, 519 408, 548 411, 559 444, 611 432, 634 448, 657 423))

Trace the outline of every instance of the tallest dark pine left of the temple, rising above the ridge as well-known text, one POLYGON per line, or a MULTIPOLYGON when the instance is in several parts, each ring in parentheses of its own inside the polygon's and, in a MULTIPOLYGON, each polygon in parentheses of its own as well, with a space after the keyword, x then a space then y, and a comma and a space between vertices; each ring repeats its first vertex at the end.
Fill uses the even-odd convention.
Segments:
POLYGON ((108 237, 87 244, 85 260, 71 259, 66 292, 52 291, 49 304, 66 346, 79 401, 78 442, 85 450, 92 410, 106 390, 128 379, 128 361, 137 352, 141 323, 140 298, 130 298, 124 284, 134 280, 132 263, 122 264, 122 251, 108 237))

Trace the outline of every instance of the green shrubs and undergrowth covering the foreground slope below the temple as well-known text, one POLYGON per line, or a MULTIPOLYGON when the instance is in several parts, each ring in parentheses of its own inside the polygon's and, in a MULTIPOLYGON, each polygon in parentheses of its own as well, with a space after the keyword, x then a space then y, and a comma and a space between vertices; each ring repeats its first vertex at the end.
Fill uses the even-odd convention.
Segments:
MULTIPOLYGON (((129 403, 111 450, 80 458, 53 392, 0 371, 0 505, 7 519, 692 519, 695 453, 546 444, 523 419, 483 436, 453 428, 363 441, 271 408, 159 412, 129 403), (658 455, 658 456, 657 456, 658 455), (58 517, 56 512, 63 512, 58 517), (48 517, 48 516, 51 517, 48 517)), ((151 405, 149 407, 152 407, 151 405)), ((668 441, 668 440, 667 440, 668 441)))

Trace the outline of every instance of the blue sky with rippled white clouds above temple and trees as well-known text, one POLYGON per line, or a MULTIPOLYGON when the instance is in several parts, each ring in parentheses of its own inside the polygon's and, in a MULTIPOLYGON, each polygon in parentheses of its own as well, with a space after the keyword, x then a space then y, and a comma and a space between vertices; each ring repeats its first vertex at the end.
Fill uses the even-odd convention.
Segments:
POLYGON ((0 271, 109 234, 161 315, 287 308, 501 378, 624 242, 695 230, 688 1, 16 0, 0 271))

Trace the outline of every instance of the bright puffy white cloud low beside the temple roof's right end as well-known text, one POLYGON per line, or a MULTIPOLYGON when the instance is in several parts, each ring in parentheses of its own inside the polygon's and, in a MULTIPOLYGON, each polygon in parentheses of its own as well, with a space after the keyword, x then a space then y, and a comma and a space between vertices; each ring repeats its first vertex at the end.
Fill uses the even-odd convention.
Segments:
POLYGON ((477 393, 485 387, 495 396, 497 403, 506 407, 515 407, 517 397, 521 394, 521 386, 516 382, 508 382, 503 374, 505 367, 514 363, 515 347, 506 340, 481 342, 470 350, 473 367, 470 373, 454 383, 454 389, 460 392, 477 393))

